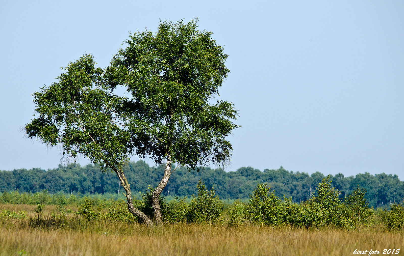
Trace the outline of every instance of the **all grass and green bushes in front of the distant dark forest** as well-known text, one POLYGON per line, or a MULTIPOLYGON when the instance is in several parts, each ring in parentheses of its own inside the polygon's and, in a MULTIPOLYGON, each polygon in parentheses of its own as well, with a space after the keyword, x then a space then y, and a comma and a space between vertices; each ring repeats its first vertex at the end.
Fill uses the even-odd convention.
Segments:
MULTIPOLYGON (((359 186, 341 200, 330 176, 301 203, 262 183, 232 203, 196 187, 190 201, 160 196, 164 222, 154 227, 106 195, 4 192, 1 255, 347 255, 404 245, 404 203, 369 208, 359 186)), ((152 193, 134 200, 151 219, 152 193)))

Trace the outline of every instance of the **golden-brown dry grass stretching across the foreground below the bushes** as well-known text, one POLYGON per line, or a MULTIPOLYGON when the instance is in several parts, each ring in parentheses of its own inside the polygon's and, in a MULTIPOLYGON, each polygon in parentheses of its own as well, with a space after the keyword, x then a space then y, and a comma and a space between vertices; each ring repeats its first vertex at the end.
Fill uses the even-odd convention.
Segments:
MULTIPOLYGON (((404 249, 403 233, 381 230, 307 230, 289 227, 175 224, 149 229, 139 224, 94 222, 83 229, 29 227, 24 219, 0 221, 0 255, 353 255, 358 250, 404 249)), ((52 211, 52 206, 44 209, 52 211)), ((48 214, 48 213, 44 213, 48 214)), ((401 252, 400 254, 404 253, 401 252)), ((362 254, 364 255, 364 254, 362 254)), ((368 254, 366 254, 368 255, 368 254)), ((374 254, 373 254, 374 255, 374 254)))

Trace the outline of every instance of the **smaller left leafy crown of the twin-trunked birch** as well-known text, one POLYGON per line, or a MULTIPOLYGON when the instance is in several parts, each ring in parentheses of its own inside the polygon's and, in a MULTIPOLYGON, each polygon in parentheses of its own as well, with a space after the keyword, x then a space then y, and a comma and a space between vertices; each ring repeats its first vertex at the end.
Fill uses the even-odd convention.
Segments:
POLYGON ((91 55, 70 63, 58 81, 34 92, 38 117, 25 126, 28 137, 50 146, 60 145, 63 155, 83 154, 101 167, 117 166, 128 159, 134 144, 114 111, 123 98, 113 94, 95 67, 91 55))

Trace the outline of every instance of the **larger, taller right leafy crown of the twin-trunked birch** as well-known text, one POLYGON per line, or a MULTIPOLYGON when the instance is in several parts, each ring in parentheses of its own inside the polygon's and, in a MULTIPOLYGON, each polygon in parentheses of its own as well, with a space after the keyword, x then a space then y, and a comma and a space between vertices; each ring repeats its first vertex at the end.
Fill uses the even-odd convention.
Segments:
POLYGON ((209 103, 227 78, 227 55, 196 27, 196 20, 165 21, 156 33, 131 34, 106 69, 108 84, 130 92, 119 113, 130 116, 136 153, 156 164, 168 156, 189 168, 221 164, 232 151, 225 138, 238 127, 237 112, 227 101, 209 103))

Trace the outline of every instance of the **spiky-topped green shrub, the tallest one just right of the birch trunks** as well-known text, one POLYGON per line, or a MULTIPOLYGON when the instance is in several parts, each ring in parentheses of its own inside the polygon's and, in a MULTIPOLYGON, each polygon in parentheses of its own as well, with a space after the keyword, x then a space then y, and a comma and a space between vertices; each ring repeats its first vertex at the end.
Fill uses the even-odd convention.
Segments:
POLYGON ((223 211, 223 202, 219 197, 215 197, 214 186, 208 191, 205 183, 199 180, 197 188, 198 196, 192 195, 187 221, 216 223, 219 221, 220 214, 223 211))

